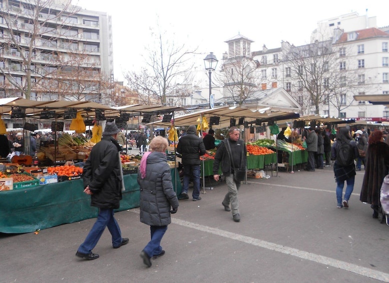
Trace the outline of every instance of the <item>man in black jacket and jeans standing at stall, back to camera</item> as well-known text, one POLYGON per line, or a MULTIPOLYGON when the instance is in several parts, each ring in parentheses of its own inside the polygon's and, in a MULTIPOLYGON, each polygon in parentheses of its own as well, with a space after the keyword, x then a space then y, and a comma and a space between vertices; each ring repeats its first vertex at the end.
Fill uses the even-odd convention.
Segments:
POLYGON ((182 165, 184 167, 184 180, 180 199, 188 199, 189 179, 193 178, 193 200, 200 200, 200 156, 204 155, 206 150, 203 139, 197 136, 195 125, 188 127, 185 136, 181 136, 177 152, 182 155, 182 165))

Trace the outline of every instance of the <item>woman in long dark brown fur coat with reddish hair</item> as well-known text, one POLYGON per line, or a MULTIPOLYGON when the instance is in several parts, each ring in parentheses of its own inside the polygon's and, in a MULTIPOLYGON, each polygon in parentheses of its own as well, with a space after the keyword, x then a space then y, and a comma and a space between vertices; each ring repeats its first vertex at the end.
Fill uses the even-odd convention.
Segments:
POLYGON ((389 171, 389 145, 380 130, 370 133, 365 156, 365 169, 360 201, 371 204, 373 218, 378 218, 379 193, 383 178, 389 171))

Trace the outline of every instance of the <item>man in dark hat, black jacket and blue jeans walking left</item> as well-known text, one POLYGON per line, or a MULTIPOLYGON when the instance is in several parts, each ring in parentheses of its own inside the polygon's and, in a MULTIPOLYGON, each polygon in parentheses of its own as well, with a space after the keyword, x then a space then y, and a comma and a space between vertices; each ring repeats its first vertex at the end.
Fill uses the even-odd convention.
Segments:
MULTIPOLYGON (((119 129, 114 122, 107 122, 103 138, 91 150, 84 166, 84 192, 91 195, 91 205, 99 208, 97 220, 76 255, 92 260, 99 257, 93 253, 105 227, 112 235, 112 245, 119 248, 128 243, 122 238, 120 227, 114 218, 114 209, 119 208, 122 199, 121 161, 116 141, 119 129)), ((124 189, 124 188, 123 188, 124 189)))

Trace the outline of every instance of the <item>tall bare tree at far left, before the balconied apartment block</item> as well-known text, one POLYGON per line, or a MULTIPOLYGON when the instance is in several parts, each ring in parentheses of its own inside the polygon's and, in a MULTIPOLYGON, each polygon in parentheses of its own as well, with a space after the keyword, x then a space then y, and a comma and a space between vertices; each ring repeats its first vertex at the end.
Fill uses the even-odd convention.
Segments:
POLYGON ((36 79, 41 81, 51 77, 51 71, 47 69, 57 66, 58 52, 55 49, 71 30, 67 23, 75 13, 77 8, 70 0, 61 7, 55 0, 3 3, 0 17, 7 29, 1 39, 3 52, 0 60, 3 63, 0 73, 11 84, 11 89, 30 99, 36 79), (35 60, 40 60, 40 63, 35 63, 35 60))

